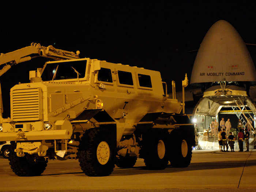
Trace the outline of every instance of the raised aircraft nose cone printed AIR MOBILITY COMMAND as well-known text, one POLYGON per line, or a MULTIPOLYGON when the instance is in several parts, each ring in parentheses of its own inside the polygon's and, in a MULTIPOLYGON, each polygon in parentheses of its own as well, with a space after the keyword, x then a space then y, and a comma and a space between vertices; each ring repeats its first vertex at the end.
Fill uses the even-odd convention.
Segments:
POLYGON ((191 84, 219 81, 256 81, 244 41, 225 20, 214 23, 206 33, 191 74, 191 84))

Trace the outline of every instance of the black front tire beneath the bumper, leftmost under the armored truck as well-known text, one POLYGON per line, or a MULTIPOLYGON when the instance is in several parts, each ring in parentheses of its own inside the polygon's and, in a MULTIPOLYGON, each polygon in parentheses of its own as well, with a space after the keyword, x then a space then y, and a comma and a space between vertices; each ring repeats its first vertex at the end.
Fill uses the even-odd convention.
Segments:
POLYGON ((38 155, 29 154, 25 154, 24 157, 17 157, 14 152, 15 148, 16 144, 12 143, 8 159, 11 169, 16 175, 21 177, 39 176, 44 172, 48 160, 45 160, 44 157, 38 157, 38 155))

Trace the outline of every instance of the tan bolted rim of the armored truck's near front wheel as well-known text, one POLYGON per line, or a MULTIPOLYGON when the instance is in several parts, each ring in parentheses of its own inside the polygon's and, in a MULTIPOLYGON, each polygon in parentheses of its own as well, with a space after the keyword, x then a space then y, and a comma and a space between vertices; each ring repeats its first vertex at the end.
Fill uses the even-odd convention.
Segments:
POLYGON ((102 141, 97 147, 97 159, 101 165, 105 165, 110 158, 110 148, 107 142, 102 141))

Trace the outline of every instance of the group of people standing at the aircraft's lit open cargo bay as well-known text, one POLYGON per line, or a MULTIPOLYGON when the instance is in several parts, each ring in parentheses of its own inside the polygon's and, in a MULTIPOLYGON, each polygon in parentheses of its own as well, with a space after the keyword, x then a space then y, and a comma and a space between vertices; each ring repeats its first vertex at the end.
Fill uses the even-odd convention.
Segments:
MULTIPOLYGON (((243 141, 245 141, 245 144, 246 144, 246 149, 247 149, 246 151, 249 151, 249 136, 250 136, 251 125, 252 125, 251 119, 249 119, 248 122, 245 125, 246 128, 243 129, 241 120, 238 121, 237 130, 240 130, 240 132, 237 135, 237 140, 239 143, 239 151, 243 151, 243 141)), ((233 133, 230 132, 230 129, 231 129, 230 119, 228 118, 227 121, 225 122, 224 118, 222 118, 219 124, 215 119, 215 121, 211 122, 210 128, 211 128, 212 136, 218 136, 219 150, 223 152, 226 152, 226 151, 228 152, 229 151, 228 149, 230 147, 231 152, 234 152, 235 137, 233 133), (220 126, 220 130, 219 130, 219 133, 217 134, 219 126, 220 126), (228 133, 229 133, 229 136, 227 136, 228 133), (225 150, 225 147, 226 147, 226 150, 225 150)))

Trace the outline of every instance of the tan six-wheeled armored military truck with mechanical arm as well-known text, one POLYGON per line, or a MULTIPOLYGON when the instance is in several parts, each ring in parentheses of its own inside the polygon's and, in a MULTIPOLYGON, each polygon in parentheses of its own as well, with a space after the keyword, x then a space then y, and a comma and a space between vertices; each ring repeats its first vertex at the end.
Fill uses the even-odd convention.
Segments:
POLYGON ((174 88, 172 99, 166 94, 160 73, 78 54, 40 44, 1 54, 0 75, 33 57, 56 60, 30 71, 30 83, 12 87, 11 118, 0 116, 13 172, 37 176, 48 159, 76 157, 88 176, 107 176, 115 164, 132 167, 138 157, 148 169, 165 169, 168 161, 187 167, 193 124, 180 114, 184 102, 174 88))

